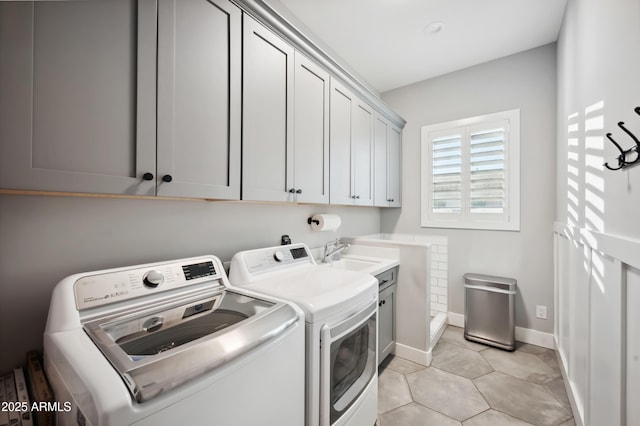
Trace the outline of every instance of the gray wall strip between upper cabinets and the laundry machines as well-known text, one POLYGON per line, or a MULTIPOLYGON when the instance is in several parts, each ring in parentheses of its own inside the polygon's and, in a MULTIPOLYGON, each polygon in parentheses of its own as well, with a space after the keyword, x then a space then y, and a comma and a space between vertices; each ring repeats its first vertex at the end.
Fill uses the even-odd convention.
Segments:
POLYGON ((0 195, 0 372, 42 347, 51 290, 83 271, 380 231, 380 210, 247 202, 0 195), (312 232, 315 213, 342 217, 312 232))

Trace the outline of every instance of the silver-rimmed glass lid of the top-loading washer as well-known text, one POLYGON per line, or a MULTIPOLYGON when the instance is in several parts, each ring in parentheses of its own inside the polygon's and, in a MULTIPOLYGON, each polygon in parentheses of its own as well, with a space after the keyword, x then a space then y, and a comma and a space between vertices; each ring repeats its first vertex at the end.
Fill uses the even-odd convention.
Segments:
POLYGON ((222 290, 84 324, 137 402, 276 338, 297 322, 282 302, 222 290))

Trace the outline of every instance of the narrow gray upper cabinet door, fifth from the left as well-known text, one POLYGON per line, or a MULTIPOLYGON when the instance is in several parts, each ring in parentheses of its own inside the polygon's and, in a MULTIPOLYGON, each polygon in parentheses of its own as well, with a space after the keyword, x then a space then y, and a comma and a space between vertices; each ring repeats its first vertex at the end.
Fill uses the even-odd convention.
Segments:
POLYGON ((352 105, 355 96, 331 79, 330 193, 331 204, 353 204, 351 176, 352 105))

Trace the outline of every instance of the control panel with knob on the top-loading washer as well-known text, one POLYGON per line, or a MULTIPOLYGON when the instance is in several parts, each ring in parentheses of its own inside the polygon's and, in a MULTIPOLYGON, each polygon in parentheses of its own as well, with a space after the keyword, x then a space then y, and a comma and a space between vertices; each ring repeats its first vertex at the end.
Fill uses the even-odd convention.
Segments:
POLYGON ((217 259, 205 257, 86 275, 74 284, 76 307, 94 308, 206 281, 221 285, 220 271, 223 269, 217 259))

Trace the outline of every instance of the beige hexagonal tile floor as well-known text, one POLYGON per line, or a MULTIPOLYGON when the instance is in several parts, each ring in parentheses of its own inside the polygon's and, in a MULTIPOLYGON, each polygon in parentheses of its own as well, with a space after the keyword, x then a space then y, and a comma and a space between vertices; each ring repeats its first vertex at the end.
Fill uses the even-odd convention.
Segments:
POLYGON ((431 366, 389 358, 379 377, 378 426, 575 426, 550 349, 518 342, 507 352, 449 326, 431 366))

